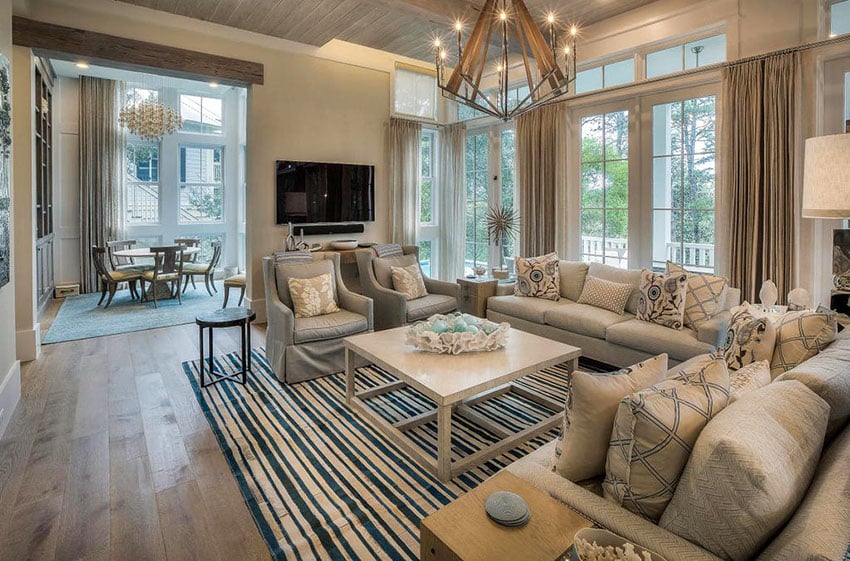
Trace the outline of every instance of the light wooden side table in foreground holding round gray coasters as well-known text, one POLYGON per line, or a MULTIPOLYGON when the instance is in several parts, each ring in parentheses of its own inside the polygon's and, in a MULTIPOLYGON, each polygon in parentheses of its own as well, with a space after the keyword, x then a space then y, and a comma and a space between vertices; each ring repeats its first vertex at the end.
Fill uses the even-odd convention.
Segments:
POLYGON ((576 532, 593 523, 527 481, 501 471, 463 497, 431 514, 420 525, 422 561, 555 561, 573 544, 576 532), (525 499, 531 520, 506 528, 490 520, 487 497, 510 491, 525 499))

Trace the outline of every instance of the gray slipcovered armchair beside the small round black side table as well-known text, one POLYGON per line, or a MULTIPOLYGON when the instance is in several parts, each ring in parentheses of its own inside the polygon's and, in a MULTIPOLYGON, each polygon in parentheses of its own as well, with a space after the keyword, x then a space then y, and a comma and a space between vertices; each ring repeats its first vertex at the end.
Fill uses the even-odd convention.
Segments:
POLYGON ((373 329, 372 300, 345 287, 339 255, 317 252, 308 262, 275 262, 263 258, 268 328, 266 357, 278 380, 312 380, 345 368, 342 338, 373 329), (296 318, 289 295, 290 278, 313 278, 330 273, 339 311, 296 318))

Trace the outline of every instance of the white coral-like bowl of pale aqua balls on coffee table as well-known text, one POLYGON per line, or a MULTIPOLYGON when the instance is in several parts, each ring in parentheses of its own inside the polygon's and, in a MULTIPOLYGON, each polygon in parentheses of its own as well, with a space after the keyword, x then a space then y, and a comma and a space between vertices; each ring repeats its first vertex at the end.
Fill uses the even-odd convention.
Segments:
POLYGON ((405 342, 420 351, 452 354, 495 351, 505 346, 510 324, 470 314, 436 314, 407 329, 405 342))

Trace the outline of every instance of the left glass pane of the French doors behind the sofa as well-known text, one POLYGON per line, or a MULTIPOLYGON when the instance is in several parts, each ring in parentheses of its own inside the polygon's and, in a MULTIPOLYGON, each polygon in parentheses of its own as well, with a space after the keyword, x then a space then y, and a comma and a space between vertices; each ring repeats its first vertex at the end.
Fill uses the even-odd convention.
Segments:
POLYGON ((629 265, 629 112, 581 120, 581 258, 629 265))

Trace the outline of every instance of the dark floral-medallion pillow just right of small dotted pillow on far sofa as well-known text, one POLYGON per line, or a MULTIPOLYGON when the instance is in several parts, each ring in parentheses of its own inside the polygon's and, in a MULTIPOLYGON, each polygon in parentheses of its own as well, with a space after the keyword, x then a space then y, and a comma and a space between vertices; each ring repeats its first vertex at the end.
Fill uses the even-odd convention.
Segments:
POLYGON ((637 318, 682 329, 688 275, 660 275, 648 269, 640 272, 637 318))

